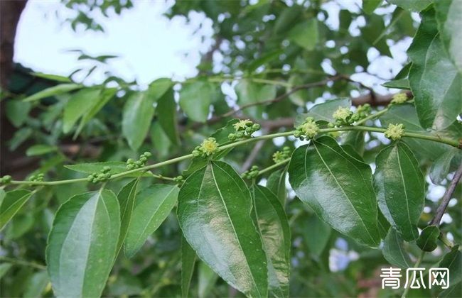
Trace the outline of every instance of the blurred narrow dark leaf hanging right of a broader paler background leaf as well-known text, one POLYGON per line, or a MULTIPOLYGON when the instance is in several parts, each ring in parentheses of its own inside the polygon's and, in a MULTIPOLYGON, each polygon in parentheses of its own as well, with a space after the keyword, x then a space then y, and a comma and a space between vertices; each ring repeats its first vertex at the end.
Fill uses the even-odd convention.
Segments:
POLYGON ((157 118, 163 131, 174 145, 178 145, 179 136, 176 126, 176 103, 173 98, 173 89, 168 89, 165 94, 157 101, 157 118))

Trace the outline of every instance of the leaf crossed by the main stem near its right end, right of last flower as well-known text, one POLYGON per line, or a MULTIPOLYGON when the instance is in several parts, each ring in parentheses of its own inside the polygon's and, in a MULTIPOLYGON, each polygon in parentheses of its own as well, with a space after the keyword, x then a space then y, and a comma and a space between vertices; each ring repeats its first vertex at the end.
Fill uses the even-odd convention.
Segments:
MULTIPOLYGON (((437 136, 437 133, 429 133, 419 124, 416 109, 410 104, 400 104, 390 106, 386 114, 380 117, 382 126, 387 127, 389 124, 403 123, 404 128, 409 133, 423 133, 437 136)), ((412 148, 412 151, 421 159, 436 160, 446 150, 451 149, 450 145, 432 142, 431 140, 419 140, 417 138, 405 138, 406 143, 412 148)))

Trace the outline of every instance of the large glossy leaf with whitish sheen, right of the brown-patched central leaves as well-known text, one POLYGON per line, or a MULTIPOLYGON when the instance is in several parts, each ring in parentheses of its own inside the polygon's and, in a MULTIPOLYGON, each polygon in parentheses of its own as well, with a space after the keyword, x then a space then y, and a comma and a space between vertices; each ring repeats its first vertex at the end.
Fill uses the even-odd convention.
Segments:
POLYGON ((333 138, 321 136, 297 148, 289 182, 297 197, 337 231, 371 247, 379 244, 370 167, 333 138))

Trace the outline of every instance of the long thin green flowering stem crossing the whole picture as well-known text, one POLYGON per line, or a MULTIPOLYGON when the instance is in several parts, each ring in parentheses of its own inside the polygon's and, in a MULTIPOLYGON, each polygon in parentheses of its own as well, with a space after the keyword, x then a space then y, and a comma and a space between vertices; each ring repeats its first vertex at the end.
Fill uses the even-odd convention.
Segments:
MULTIPOLYGON (((378 128, 378 127, 367 127, 367 126, 343 126, 343 127, 335 127, 335 128, 322 128, 319 130, 319 133, 331 133, 333 131, 371 131, 371 132, 376 132, 376 133, 385 133, 387 131, 385 128, 378 128)), ((284 136, 292 136, 294 134, 294 131, 286 131, 284 133, 272 133, 269 135, 265 136, 259 136, 256 138, 246 138, 244 140, 238 140, 237 142, 230 143, 227 145, 222 145, 220 146, 220 150, 225 150, 229 148, 234 148, 240 145, 245 145, 247 143, 252 143, 256 142, 258 140, 268 140, 272 138, 278 138, 278 137, 284 137, 284 136)), ((404 133, 405 137, 411 137, 411 138, 421 138, 424 140, 433 140, 434 142, 438 143, 444 143, 448 145, 452 145, 454 147, 458 147, 459 143, 457 140, 451 140, 448 138, 440 138, 438 136, 426 136, 426 135, 421 135, 419 133, 404 133)), ((147 171, 154 169, 156 167, 163 167, 164 165, 171 165, 176 162, 180 162, 182 160, 188 160, 189 158, 193 158, 192 154, 187 154, 180 156, 178 158, 172 158, 171 160, 166 160, 163 162, 156 163, 154 165, 146 165, 144 167, 139 167, 134 170, 128 170, 125 172, 120 172, 119 174, 112 175, 112 179, 116 179, 119 177, 124 177, 132 173, 136 172, 141 172, 141 171, 147 171)), ((44 182, 38 182, 38 181, 18 181, 18 180, 13 180, 10 183, 11 184, 28 184, 28 185, 58 185, 58 184, 68 184, 68 183, 74 183, 74 182, 85 182, 87 181, 87 178, 79 178, 79 179, 71 179, 71 180, 57 180, 57 181, 44 181, 44 182)))

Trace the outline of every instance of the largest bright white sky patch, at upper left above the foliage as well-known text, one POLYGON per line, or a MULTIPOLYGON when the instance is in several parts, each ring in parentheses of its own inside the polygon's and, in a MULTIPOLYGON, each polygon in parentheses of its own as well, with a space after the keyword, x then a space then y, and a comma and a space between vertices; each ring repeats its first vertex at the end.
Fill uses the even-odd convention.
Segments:
POLYGON ((95 65, 78 61, 76 53, 68 52, 78 49, 93 56, 119 56, 95 72, 91 82, 104 79, 104 71, 141 84, 159 77, 194 76, 200 52, 210 46, 212 22, 203 13, 192 13, 190 23, 183 17, 169 20, 162 14, 170 6, 171 2, 164 0, 134 1, 134 8, 120 16, 109 13, 109 18, 97 19, 104 33, 82 28, 75 33, 64 21, 73 12, 59 0, 30 0, 18 24, 14 61, 36 72, 70 75, 95 65))

